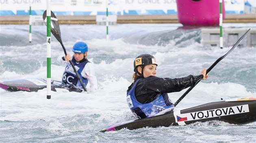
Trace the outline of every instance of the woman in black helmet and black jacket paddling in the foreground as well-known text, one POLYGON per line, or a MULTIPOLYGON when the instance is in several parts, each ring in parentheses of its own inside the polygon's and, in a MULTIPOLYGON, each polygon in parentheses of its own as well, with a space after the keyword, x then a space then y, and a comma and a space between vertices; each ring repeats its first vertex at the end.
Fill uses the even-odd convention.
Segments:
POLYGON ((156 77, 156 59, 150 54, 141 54, 134 61, 133 80, 128 87, 126 100, 128 106, 138 118, 161 115, 174 109, 167 93, 178 92, 194 86, 200 79, 207 79, 206 69, 198 76, 183 78, 156 77))

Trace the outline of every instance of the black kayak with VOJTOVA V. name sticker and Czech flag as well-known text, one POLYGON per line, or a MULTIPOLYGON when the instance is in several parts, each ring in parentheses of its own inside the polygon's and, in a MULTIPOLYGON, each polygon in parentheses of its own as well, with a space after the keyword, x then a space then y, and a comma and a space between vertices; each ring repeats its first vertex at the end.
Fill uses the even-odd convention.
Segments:
POLYGON ((230 124, 247 124, 256 121, 256 97, 227 99, 211 102, 180 111, 170 111, 166 114, 143 119, 130 120, 114 124, 99 130, 130 130, 143 127, 178 126, 194 122, 219 120, 230 124))

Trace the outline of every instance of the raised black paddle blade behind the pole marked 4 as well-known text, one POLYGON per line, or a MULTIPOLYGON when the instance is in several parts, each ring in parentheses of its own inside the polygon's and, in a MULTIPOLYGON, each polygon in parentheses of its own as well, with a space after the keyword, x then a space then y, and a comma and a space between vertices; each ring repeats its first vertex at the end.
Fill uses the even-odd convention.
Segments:
MULTIPOLYGON (((43 12, 43 23, 47 25, 46 23, 46 11, 43 12)), ((51 32, 54 35, 54 37, 60 42, 61 41, 61 30, 59 26, 59 22, 57 17, 54 15, 54 13, 51 11, 51 32)))

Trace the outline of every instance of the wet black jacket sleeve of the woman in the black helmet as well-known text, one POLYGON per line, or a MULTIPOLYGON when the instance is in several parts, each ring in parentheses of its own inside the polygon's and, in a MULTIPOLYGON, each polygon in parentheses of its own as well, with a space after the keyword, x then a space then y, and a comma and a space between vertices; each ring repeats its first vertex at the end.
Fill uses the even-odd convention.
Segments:
POLYGON ((201 80, 203 75, 193 76, 189 75, 183 78, 158 78, 150 76, 148 78, 141 78, 135 88, 135 97, 140 103, 149 103, 159 93, 172 93, 183 90, 190 86, 194 86, 197 81, 201 80))

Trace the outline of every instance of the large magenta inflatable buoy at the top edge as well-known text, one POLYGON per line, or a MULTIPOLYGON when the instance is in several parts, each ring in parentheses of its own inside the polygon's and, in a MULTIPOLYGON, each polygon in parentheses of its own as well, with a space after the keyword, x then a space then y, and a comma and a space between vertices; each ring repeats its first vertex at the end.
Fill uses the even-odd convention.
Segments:
MULTIPOLYGON (((183 25, 219 25, 219 0, 176 0, 178 19, 183 25)), ((225 17, 224 0, 222 14, 225 17)))

